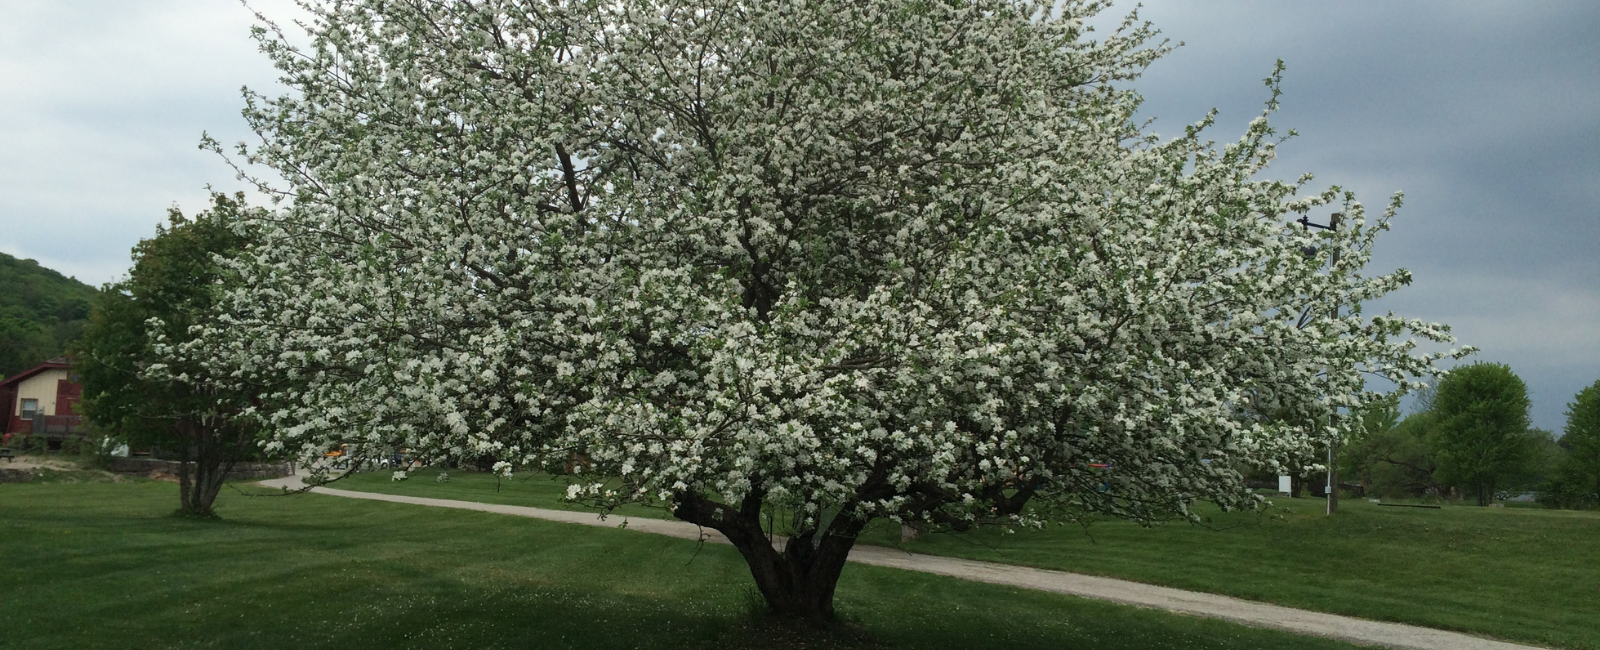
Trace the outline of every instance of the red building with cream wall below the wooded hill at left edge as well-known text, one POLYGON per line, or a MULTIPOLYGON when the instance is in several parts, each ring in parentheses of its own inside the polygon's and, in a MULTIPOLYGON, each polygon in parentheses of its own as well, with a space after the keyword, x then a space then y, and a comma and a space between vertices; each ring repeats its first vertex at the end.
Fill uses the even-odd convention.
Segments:
POLYGON ((72 381, 66 359, 51 359, 0 381, 0 403, 6 405, 5 437, 43 434, 58 447, 61 439, 83 431, 78 400, 83 386, 72 381))

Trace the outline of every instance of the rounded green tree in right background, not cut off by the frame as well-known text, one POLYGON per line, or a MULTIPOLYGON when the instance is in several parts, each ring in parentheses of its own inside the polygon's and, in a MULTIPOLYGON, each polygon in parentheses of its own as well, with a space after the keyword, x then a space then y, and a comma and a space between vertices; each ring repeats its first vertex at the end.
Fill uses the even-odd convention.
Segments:
POLYGON ((1427 435, 1438 482, 1488 506, 1496 485, 1525 475, 1538 458, 1528 407, 1528 386, 1504 363, 1450 371, 1434 395, 1437 426, 1427 435))

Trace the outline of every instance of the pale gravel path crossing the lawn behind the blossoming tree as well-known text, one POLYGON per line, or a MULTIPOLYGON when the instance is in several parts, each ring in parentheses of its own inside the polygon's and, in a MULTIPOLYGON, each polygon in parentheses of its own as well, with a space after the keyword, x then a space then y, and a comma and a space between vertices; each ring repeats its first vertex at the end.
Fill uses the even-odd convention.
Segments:
MULTIPOLYGON (((301 487, 299 477, 262 480, 267 487, 301 487)), ((581 524, 635 530, 642 533, 667 535, 683 540, 728 543, 715 530, 701 528, 694 524, 670 522, 661 519, 627 519, 610 517, 602 520, 590 512, 550 511, 544 508, 502 506, 494 503, 430 500, 422 496, 398 496, 376 492, 352 492, 336 488, 312 488, 318 495, 347 496, 357 500, 408 503, 416 506, 456 508, 467 511, 510 514, 518 517, 544 519, 562 524, 581 524), (621 522, 619 522, 621 520, 621 522)), ((1227 596, 1182 591, 1115 578, 1101 578, 1080 573, 1053 572, 1045 568, 1014 567, 994 562, 962 560, 954 557, 922 556, 882 546, 856 546, 850 552, 850 560, 874 567, 904 568, 946 575, 979 583, 1006 584, 1024 589, 1053 591, 1058 594, 1080 596, 1086 599, 1110 600, 1125 605, 1150 607, 1157 610, 1178 612, 1195 616, 1221 618, 1254 628, 1275 628, 1296 634, 1310 634, 1347 640, 1352 644, 1379 645, 1405 650, 1538 650, 1534 645, 1507 644, 1443 629, 1418 628, 1400 623, 1368 621, 1365 618, 1339 616, 1320 612, 1306 612, 1280 605, 1267 605, 1253 600, 1240 600, 1227 596)))

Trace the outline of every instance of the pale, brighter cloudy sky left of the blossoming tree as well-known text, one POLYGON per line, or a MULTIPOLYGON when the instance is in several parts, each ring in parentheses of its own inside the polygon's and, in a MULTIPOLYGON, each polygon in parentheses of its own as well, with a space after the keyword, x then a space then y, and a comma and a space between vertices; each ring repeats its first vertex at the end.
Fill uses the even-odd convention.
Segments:
POLYGON ((0 251, 107 282, 168 207, 203 208, 206 184, 243 189, 197 149, 206 130, 246 138, 238 90, 275 80, 243 6, 22 0, 0 13, 0 251))

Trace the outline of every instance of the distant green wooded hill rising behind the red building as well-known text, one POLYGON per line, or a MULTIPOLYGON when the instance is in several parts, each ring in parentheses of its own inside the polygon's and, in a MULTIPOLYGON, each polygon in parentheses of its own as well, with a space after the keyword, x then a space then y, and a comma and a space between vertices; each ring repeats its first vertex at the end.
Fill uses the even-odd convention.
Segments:
POLYGON ((66 354, 98 293, 37 261, 0 253, 0 376, 66 354))

